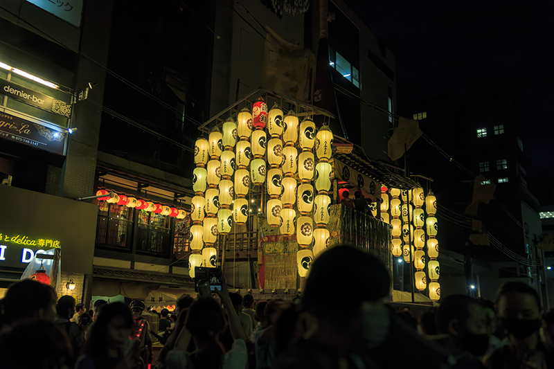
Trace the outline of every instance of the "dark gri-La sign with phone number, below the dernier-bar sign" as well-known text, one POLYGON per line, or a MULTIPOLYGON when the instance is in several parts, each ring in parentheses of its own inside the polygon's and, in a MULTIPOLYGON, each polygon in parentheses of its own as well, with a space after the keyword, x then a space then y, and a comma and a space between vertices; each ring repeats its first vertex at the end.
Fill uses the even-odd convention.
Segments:
POLYGON ((50 129, 17 116, 0 113, 0 138, 63 155, 65 136, 64 132, 50 129))

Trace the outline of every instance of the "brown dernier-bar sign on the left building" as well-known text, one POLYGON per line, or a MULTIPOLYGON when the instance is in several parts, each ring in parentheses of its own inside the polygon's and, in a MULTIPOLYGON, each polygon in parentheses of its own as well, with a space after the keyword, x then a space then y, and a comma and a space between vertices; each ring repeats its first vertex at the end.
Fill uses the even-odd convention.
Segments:
POLYGON ((71 118, 71 104, 67 104, 62 100, 57 100, 57 98, 44 95, 44 93, 21 86, 21 84, 4 80, 3 78, 0 78, 0 89, 0 93, 10 98, 39 107, 46 111, 51 111, 52 113, 65 116, 66 118, 71 118))

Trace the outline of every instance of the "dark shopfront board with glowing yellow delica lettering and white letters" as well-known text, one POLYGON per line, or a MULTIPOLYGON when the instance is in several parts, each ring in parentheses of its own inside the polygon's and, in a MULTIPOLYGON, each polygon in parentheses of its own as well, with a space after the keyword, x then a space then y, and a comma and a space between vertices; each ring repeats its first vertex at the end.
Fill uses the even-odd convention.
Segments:
POLYGON ((92 273, 98 207, 0 186, 0 270, 23 271, 36 253, 60 248, 62 271, 92 273))

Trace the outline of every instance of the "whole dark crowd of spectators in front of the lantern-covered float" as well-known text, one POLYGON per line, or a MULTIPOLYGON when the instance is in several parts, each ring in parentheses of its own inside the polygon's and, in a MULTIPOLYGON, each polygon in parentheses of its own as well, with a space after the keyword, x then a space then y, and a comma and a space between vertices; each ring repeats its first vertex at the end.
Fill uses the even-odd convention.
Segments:
POLYGON ((379 259, 334 246, 312 263, 301 298, 255 303, 225 282, 213 295, 181 296, 173 314, 159 313, 152 334, 163 347, 154 352, 143 302, 98 300, 87 312, 71 296, 21 280, 0 301, 0 367, 554 368, 554 311, 543 312, 523 282, 504 282, 494 302, 445 296, 417 319, 410 307, 385 303, 390 294, 379 259), (340 265, 348 265, 341 278, 340 265))

